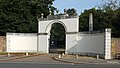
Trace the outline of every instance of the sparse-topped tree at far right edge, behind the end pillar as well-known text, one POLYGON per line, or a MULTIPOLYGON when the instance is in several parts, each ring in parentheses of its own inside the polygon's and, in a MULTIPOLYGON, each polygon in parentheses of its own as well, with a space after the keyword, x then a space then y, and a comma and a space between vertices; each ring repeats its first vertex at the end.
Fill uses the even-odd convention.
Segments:
POLYGON ((120 1, 108 0, 101 6, 101 9, 105 12, 105 21, 109 23, 109 27, 112 29, 112 36, 120 37, 120 29, 118 27, 120 26, 120 1))

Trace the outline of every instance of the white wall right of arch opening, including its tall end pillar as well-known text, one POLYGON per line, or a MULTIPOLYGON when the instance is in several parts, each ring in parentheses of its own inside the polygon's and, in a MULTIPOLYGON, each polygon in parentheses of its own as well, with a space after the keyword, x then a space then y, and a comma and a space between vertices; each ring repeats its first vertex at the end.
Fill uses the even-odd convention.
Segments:
POLYGON ((111 58, 111 29, 105 29, 104 33, 66 35, 66 52, 72 54, 101 55, 105 59, 111 58))

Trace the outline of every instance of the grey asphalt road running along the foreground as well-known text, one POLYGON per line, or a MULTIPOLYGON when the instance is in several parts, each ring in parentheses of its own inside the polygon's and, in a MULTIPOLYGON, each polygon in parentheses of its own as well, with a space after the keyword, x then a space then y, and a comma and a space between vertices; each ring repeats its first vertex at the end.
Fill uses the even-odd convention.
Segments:
POLYGON ((72 64, 42 62, 0 62, 0 68, 120 68, 120 64, 72 64))

